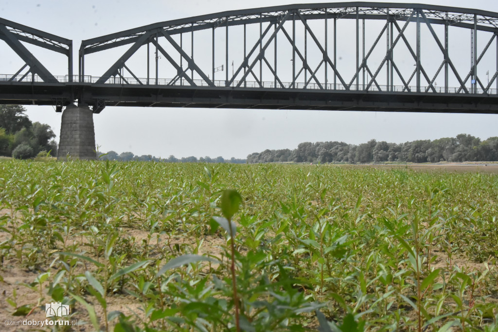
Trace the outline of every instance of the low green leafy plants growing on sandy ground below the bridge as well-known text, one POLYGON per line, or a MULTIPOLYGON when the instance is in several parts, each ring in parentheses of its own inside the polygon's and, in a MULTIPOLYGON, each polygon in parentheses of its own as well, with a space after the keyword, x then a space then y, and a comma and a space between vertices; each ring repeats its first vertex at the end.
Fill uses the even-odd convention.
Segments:
POLYGON ((498 331, 497 203, 479 173, 2 160, 1 320, 498 331))

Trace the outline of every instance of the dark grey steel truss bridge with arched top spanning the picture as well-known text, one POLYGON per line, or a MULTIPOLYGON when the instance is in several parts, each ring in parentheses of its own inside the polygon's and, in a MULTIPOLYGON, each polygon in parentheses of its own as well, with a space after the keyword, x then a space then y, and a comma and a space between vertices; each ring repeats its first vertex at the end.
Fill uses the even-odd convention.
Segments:
POLYGON ((2 104, 498 113, 498 13, 484 10, 226 11, 83 40, 78 74, 72 40, 2 18, 0 39, 24 62, 0 75, 2 104), (67 73, 51 73, 26 44, 65 55, 67 73))

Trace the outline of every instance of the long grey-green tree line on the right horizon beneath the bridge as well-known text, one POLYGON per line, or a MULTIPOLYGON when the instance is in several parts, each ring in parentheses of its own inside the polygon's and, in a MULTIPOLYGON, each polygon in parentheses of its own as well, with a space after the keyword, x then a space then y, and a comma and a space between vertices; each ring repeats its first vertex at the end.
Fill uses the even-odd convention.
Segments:
POLYGON ((269 150, 248 155, 248 163, 320 162, 320 163, 380 163, 380 162, 463 162, 498 161, 498 137, 481 141, 479 137, 459 134, 435 140, 415 140, 405 143, 377 142, 375 139, 359 145, 345 142, 303 142, 296 149, 269 150))

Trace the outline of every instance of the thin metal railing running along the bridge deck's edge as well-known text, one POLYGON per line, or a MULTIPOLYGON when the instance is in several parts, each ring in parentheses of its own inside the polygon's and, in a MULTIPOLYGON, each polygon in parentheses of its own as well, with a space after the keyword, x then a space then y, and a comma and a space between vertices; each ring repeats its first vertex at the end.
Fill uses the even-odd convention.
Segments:
MULTIPOLYGON (((0 83, 1 82, 11 82, 11 83, 88 83, 88 84, 97 84, 102 77, 100 76, 79 76, 79 75, 65 75, 65 76, 54 76, 56 81, 47 82, 41 79, 37 75, 6 75, 0 74, 0 83)), ((209 87, 209 84, 205 80, 191 80, 197 87, 209 87)), ((227 81, 225 80, 214 80, 214 85, 220 88, 236 88, 239 82, 233 82, 230 85, 227 85, 227 81)), ((115 85, 144 85, 144 86, 185 86, 190 87, 191 85, 185 79, 162 79, 162 78, 134 78, 134 77, 109 77, 104 82, 107 84, 115 84, 115 85)), ((386 85, 371 85, 367 89, 367 84, 356 84, 351 85, 349 89, 346 89, 342 84, 334 84, 334 83, 302 83, 302 82, 257 82, 257 81, 246 81, 240 85, 241 88, 249 88, 249 89, 302 89, 302 90, 327 90, 327 91, 364 91, 364 92, 393 92, 393 93, 403 93, 403 92, 417 92, 416 86, 386 86, 386 85)), ((472 91, 471 87, 467 87, 468 91, 472 91)), ((435 86, 434 90, 430 87, 420 87, 420 92, 427 93, 448 93, 448 94, 466 94, 466 92, 461 88, 456 87, 441 87, 435 86), (435 91, 434 91, 435 90, 435 91)), ((498 89, 488 89, 487 92, 482 88, 478 88, 476 93, 478 95, 498 95, 498 89)))

